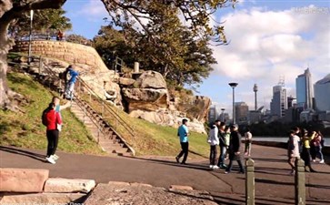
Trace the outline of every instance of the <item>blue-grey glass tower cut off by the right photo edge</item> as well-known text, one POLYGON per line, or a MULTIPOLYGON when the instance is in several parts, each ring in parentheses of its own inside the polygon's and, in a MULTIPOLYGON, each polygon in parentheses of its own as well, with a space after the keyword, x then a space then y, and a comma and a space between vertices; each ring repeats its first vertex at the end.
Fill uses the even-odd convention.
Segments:
POLYGON ((330 110, 330 74, 314 85, 315 108, 318 111, 330 110))

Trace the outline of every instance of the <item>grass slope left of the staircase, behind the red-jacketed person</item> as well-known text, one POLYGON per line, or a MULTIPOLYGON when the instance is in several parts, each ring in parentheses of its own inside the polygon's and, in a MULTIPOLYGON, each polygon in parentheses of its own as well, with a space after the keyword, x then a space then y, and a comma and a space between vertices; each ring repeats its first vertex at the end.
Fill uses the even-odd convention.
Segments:
MULTIPOLYGON (((45 126, 41 113, 53 94, 29 76, 8 73, 8 86, 25 96, 20 104, 25 113, 0 109, 0 145, 30 149, 46 149, 45 126)), ((69 110, 62 111, 63 131, 60 132, 58 150, 84 154, 104 154, 89 131, 69 110)))

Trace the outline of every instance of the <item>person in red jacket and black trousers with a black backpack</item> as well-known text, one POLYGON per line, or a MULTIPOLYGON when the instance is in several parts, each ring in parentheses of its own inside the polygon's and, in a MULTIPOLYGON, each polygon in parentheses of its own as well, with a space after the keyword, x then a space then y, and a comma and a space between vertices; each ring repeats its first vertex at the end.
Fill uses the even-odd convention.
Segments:
POLYGON ((48 162, 55 164, 55 151, 57 149, 59 130, 57 126, 62 125, 62 119, 58 112, 55 111, 55 103, 50 103, 45 113, 45 121, 47 125, 46 136, 48 140, 47 157, 48 162))

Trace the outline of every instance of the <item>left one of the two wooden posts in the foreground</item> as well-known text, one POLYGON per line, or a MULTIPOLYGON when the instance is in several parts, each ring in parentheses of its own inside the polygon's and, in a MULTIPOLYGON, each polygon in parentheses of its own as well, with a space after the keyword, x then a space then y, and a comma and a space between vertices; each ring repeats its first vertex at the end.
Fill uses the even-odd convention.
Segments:
POLYGON ((245 165, 245 204, 255 205, 255 161, 247 159, 245 165))

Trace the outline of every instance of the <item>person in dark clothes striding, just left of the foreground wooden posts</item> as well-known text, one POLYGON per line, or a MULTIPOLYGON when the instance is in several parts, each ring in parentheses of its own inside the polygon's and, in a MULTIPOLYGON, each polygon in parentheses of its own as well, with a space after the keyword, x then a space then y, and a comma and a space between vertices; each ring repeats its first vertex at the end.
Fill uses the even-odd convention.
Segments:
POLYGON ((245 169, 243 168, 242 161, 241 161, 241 134, 238 133, 238 126, 233 125, 231 127, 231 134, 230 134, 230 144, 229 144, 229 165, 227 169, 225 169, 225 174, 230 173, 233 168, 233 161, 236 160, 239 166, 239 173, 244 174, 245 169))

